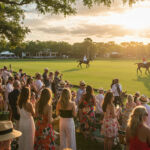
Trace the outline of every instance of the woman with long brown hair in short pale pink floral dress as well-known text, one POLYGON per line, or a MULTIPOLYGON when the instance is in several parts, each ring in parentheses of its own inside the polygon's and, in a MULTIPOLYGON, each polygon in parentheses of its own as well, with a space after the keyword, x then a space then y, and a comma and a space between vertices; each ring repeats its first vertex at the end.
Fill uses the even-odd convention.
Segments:
POLYGON ((117 113, 113 101, 113 93, 107 92, 102 105, 104 119, 101 133, 104 135, 104 150, 112 149, 113 140, 118 134, 119 123, 117 121, 117 113))

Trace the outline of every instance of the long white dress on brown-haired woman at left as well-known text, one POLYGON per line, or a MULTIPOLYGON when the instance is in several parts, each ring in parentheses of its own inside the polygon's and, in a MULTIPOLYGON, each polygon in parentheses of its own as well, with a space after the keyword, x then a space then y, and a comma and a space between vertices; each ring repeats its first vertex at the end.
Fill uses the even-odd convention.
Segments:
POLYGON ((33 150, 35 124, 31 113, 24 108, 20 109, 19 130, 22 132, 19 138, 19 150, 33 150))

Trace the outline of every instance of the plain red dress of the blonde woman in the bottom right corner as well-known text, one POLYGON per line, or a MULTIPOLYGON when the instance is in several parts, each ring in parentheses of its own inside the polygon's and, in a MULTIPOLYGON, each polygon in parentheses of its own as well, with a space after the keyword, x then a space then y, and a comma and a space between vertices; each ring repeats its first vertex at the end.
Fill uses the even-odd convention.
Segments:
POLYGON ((150 150, 150 147, 147 143, 142 142, 138 139, 137 136, 130 139, 130 148, 129 150, 150 150))

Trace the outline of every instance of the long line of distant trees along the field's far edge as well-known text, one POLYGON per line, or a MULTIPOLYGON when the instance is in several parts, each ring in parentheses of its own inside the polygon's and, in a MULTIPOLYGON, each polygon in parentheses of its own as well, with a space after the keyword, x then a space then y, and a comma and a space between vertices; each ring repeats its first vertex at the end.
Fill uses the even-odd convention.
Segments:
POLYGON ((56 41, 27 41, 19 46, 12 47, 10 43, 0 43, 0 51, 11 51, 17 56, 22 55, 22 52, 30 52, 35 55, 36 52, 51 50, 57 52, 58 57, 67 55, 69 58, 83 58, 86 55, 89 59, 99 57, 107 57, 112 52, 118 52, 119 57, 139 58, 150 57, 150 43, 142 42, 122 42, 120 44, 110 41, 94 42, 91 38, 85 38, 82 42, 69 44, 68 42, 56 41))

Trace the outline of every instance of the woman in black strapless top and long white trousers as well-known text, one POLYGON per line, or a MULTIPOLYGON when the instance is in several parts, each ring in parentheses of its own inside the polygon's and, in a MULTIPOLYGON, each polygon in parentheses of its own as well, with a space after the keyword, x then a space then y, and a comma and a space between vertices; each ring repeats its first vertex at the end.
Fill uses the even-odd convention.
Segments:
POLYGON ((75 103, 71 101, 70 89, 63 89, 56 107, 60 115, 60 150, 71 148, 76 150, 75 125, 73 117, 76 116, 75 103))

